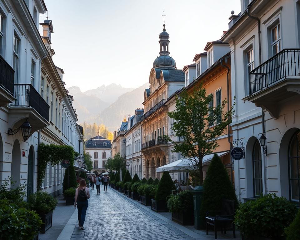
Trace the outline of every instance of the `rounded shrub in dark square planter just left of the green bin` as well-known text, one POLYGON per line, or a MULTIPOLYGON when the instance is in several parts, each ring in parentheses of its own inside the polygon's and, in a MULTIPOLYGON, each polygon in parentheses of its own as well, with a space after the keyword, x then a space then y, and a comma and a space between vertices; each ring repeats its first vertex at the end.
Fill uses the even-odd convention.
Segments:
POLYGON ((193 194, 184 190, 176 195, 170 195, 168 209, 172 212, 172 220, 182 225, 194 224, 193 194))

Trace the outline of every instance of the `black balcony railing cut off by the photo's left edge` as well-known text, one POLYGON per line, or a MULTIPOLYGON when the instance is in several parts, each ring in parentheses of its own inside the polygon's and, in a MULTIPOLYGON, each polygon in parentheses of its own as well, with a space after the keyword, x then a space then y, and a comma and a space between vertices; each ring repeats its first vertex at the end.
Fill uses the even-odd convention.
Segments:
POLYGON ((15 71, 0 55, 0 84, 13 94, 13 78, 15 71))

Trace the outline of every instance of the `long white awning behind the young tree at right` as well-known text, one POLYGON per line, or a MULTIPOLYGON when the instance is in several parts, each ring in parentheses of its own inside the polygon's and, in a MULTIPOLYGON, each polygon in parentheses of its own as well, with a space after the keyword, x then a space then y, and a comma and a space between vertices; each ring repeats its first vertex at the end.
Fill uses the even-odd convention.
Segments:
MULTIPOLYGON (((229 153, 229 151, 222 152, 222 153, 217 153, 219 157, 222 157, 229 153)), ((213 158, 214 153, 208 154, 204 156, 202 159, 202 165, 205 166, 213 158)), ((198 160, 198 158, 196 158, 198 160)), ((161 166, 159 168, 156 168, 157 173, 162 173, 164 171, 168 171, 169 173, 184 173, 187 172, 188 170, 192 170, 193 168, 193 161, 191 161, 189 158, 181 158, 173 163, 169 163, 167 165, 161 166)))

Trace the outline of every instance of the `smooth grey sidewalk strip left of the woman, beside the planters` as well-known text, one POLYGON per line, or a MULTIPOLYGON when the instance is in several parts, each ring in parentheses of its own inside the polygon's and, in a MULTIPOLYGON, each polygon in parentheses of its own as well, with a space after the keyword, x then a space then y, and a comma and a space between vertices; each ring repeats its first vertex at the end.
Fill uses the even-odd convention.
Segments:
POLYGON ((63 195, 57 197, 57 199, 58 205, 53 212, 52 227, 46 233, 40 233, 38 235, 39 240, 56 240, 75 211, 73 205, 66 206, 66 200, 63 200, 63 195))

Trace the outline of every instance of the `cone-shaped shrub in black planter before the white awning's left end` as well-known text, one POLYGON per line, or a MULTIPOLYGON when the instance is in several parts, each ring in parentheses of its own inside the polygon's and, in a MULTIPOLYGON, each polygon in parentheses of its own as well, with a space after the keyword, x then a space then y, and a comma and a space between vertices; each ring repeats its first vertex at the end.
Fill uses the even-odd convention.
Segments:
POLYGON ((175 190, 175 185, 168 171, 165 171, 159 181, 155 200, 151 201, 151 209, 156 212, 168 212, 167 197, 171 195, 172 190, 175 190))

